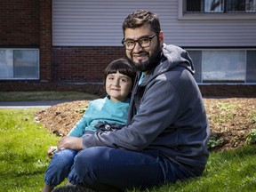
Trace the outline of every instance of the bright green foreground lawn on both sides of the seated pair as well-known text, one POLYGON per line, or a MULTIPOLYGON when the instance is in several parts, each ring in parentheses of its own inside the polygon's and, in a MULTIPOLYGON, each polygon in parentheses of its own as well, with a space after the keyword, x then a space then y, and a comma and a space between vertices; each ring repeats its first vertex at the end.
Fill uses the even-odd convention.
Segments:
MULTIPOLYGON (((46 151, 59 138, 34 123, 35 112, 0 109, 0 191, 40 191, 44 185, 46 151)), ((146 191, 256 191, 256 146, 212 153, 203 176, 146 191)))

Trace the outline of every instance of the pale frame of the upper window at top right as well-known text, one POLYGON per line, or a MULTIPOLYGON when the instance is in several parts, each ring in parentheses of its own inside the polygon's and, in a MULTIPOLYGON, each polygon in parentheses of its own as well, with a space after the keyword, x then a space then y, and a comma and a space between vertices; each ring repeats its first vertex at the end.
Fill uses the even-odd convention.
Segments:
POLYGON ((178 20, 256 20, 256 12, 185 12, 187 1, 178 1, 178 20))

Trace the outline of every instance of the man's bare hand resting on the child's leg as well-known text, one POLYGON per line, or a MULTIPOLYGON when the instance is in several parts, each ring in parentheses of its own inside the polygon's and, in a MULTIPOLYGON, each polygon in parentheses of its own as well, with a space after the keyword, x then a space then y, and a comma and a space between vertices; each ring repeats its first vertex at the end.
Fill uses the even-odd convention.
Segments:
POLYGON ((83 139, 77 137, 66 136, 60 139, 57 146, 59 150, 62 148, 71 148, 73 150, 81 150, 83 148, 83 139))

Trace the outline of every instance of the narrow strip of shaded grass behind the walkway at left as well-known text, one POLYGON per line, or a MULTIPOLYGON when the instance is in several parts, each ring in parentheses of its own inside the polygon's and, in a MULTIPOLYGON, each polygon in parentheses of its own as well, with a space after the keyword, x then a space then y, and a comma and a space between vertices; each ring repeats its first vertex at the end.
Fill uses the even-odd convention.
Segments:
POLYGON ((92 100, 97 95, 86 92, 0 92, 0 101, 92 100))

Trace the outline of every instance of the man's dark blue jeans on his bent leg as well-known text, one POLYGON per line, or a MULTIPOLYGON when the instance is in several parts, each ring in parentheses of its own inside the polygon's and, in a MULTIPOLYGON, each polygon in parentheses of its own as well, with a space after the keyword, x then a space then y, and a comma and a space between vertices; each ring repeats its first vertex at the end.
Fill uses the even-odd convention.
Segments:
POLYGON ((155 149, 136 152, 108 147, 86 148, 77 154, 74 167, 82 184, 96 191, 150 188, 189 177, 182 167, 155 149))

